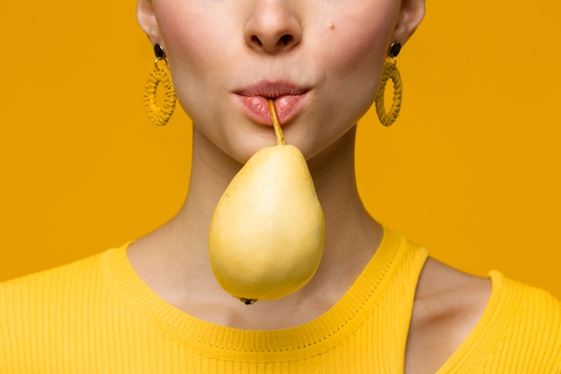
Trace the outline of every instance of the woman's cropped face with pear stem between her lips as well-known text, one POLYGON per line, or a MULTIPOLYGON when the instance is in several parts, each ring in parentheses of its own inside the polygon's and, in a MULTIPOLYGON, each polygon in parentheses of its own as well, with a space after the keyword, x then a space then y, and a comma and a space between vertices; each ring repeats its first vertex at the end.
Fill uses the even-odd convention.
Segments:
POLYGON ((374 100, 389 43, 409 37, 396 28, 402 13, 397 0, 139 3, 143 29, 166 51, 177 99, 237 161, 275 144, 268 98, 287 144, 307 158, 349 131, 374 100))

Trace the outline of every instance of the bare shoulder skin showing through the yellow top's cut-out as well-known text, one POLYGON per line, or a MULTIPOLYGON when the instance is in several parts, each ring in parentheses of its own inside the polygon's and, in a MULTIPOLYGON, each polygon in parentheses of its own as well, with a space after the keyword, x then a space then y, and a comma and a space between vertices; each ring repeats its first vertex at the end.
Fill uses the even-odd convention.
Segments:
POLYGON ((405 372, 434 374, 470 335, 483 315, 491 283, 429 258, 411 317, 405 372))

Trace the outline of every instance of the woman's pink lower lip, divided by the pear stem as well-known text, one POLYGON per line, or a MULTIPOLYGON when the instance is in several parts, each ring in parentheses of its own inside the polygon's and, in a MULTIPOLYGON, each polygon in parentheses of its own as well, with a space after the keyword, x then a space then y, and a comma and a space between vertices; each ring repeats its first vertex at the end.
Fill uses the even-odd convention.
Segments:
MULTIPOLYGON (((274 100, 280 124, 286 124, 304 105, 307 92, 300 95, 280 96, 274 100)), ((238 96, 246 114, 262 125, 272 126, 269 100, 263 96, 238 96)))

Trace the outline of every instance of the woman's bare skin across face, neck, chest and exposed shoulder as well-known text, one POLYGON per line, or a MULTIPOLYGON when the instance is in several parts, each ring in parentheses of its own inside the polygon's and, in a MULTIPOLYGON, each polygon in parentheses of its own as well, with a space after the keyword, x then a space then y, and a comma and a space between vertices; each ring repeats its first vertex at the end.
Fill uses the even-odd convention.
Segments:
MULTIPOLYGON (((129 248, 144 282, 194 317, 242 329, 302 325, 340 300, 382 237, 355 183, 356 123, 374 100, 389 44, 409 39, 423 13, 423 0, 139 0, 139 22, 151 43, 164 47, 177 98, 194 121, 185 204, 129 248), (252 90, 268 96, 275 90, 301 96, 298 108, 284 99, 277 106, 287 143, 308 161, 326 234, 309 283, 281 300, 246 307, 216 283, 206 243, 229 180, 254 152, 275 143, 272 127, 244 107, 246 88, 255 83, 260 88, 252 90)), ((429 259, 405 372, 435 373, 479 320, 489 289, 487 280, 429 259)))

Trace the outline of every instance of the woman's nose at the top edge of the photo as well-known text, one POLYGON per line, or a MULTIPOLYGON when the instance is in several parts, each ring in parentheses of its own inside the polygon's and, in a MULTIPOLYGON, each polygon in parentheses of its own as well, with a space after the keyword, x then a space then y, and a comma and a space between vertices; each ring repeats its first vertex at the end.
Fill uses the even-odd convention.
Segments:
POLYGON ((255 0, 253 13, 247 20, 244 31, 246 44, 250 48, 260 52, 280 53, 300 43, 302 25, 289 3, 291 0, 255 0))

